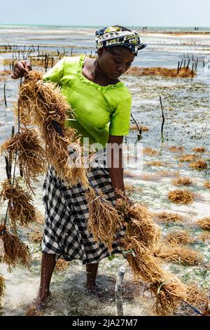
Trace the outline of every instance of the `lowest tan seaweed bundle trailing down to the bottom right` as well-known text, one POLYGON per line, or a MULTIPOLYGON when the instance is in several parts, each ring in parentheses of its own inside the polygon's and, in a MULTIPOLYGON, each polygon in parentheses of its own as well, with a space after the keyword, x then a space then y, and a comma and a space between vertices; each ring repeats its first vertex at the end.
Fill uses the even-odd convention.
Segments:
POLYGON ((123 243, 134 278, 146 282, 146 290, 155 296, 153 310, 158 315, 171 314, 179 306, 181 299, 186 298, 185 286, 176 277, 166 274, 160 268, 160 260, 138 239, 127 237, 126 234, 123 243))

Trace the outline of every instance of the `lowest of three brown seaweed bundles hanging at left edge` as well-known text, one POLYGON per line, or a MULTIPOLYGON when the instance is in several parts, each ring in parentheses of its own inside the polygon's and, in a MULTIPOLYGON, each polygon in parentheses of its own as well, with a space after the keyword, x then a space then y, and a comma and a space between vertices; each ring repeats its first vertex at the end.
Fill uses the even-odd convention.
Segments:
POLYGON ((10 234, 3 225, 0 226, 0 232, 4 247, 2 261, 8 265, 8 272, 12 272, 12 268, 19 264, 29 268, 31 255, 27 246, 17 235, 10 234))

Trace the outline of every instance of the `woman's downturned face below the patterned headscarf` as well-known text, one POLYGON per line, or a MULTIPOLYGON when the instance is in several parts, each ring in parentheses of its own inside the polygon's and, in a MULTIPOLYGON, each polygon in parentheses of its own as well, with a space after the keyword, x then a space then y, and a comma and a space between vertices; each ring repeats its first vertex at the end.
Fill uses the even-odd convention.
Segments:
POLYGON ((100 48, 98 55, 99 67, 110 79, 118 79, 129 69, 135 58, 129 49, 123 47, 117 47, 111 52, 100 48))

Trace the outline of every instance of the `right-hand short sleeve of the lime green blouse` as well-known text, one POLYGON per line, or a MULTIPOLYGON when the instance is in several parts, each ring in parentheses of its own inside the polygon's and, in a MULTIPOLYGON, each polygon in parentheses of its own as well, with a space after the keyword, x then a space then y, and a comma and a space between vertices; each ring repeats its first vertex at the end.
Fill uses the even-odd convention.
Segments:
POLYGON ((111 114, 109 134, 111 136, 127 136, 130 131, 130 113, 132 98, 118 103, 116 109, 111 114))

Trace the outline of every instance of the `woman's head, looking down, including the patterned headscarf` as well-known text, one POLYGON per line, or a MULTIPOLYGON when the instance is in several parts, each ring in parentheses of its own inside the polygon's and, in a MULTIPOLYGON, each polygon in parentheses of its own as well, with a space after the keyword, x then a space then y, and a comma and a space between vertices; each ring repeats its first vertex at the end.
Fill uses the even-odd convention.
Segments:
POLYGON ((96 44, 99 66, 111 79, 125 73, 138 50, 146 47, 137 32, 120 25, 97 30, 96 44))

